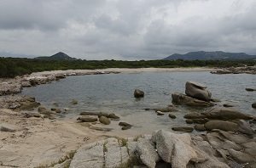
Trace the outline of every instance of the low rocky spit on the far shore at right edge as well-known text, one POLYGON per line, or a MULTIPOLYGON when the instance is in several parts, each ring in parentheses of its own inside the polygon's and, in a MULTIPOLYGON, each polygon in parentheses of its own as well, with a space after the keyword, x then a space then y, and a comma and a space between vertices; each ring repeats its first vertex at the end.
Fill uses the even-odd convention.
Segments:
POLYGON ((230 67, 211 71, 212 74, 256 74, 256 66, 230 67))

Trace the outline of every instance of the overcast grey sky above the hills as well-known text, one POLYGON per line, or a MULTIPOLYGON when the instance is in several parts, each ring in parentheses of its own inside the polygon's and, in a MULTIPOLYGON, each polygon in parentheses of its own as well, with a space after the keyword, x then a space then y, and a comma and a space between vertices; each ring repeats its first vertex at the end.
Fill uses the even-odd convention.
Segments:
POLYGON ((0 55, 256 54, 255 0, 0 0, 0 55))

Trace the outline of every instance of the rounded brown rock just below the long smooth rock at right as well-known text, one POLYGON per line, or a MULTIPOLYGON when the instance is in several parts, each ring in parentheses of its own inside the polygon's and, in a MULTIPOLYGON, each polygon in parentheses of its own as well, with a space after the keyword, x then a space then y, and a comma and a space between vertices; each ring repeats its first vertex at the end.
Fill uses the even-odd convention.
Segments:
POLYGON ((205 124, 207 130, 219 129, 225 132, 237 132, 238 125, 225 120, 210 120, 205 124))

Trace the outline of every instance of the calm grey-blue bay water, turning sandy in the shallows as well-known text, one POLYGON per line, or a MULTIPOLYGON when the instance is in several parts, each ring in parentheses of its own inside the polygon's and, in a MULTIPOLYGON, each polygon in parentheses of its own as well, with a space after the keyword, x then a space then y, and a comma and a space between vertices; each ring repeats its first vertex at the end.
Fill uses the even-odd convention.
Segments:
MULTIPOLYGON (((109 74, 91 76, 69 76, 61 81, 38 87, 24 88, 22 94, 36 97, 42 104, 69 108, 66 117, 78 116, 83 111, 115 113, 121 121, 134 125, 128 132, 150 133, 157 129, 170 130, 172 126, 184 126, 183 115, 207 109, 178 107, 177 119, 168 115, 158 116, 144 108, 163 108, 172 104, 172 92, 185 92, 186 81, 197 81, 207 85, 212 98, 221 104, 234 104, 244 113, 255 114, 251 104, 256 101, 256 92, 247 92, 246 87, 256 87, 256 76, 246 74, 212 75, 209 72, 142 72, 134 74, 109 74), (141 99, 133 98, 134 89, 145 92, 141 99), (72 99, 79 104, 72 105, 72 99)), ((118 121, 110 127, 118 128, 118 121)))

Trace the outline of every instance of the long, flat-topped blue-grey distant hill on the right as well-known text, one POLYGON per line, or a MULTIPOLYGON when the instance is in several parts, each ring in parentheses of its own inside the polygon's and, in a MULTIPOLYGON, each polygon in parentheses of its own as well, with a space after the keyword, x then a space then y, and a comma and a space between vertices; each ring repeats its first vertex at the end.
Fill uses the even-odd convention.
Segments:
POLYGON ((190 52, 185 54, 174 53, 164 60, 183 59, 183 60, 217 60, 217 59, 256 59, 256 55, 248 55, 247 53, 225 53, 222 51, 215 52, 190 52))

